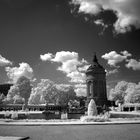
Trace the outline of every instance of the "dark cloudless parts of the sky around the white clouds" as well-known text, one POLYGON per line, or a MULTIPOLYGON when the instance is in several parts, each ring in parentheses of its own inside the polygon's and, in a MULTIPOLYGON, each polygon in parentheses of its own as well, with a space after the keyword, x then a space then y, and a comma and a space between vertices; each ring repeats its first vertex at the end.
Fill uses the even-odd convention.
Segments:
MULTIPOLYGON (((82 14, 71 13, 67 0, 1 0, 0 1, 0 54, 13 62, 13 67, 26 62, 34 70, 37 79, 49 78, 66 82, 57 65, 42 62, 40 54, 74 51, 91 62, 96 52, 100 63, 110 69, 101 56, 110 51, 127 50, 137 61, 140 59, 140 30, 114 35, 106 29, 85 21, 82 14)), ((112 13, 111 13, 112 14, 112 13)), ((113 16, 106 16, 111 19, 113 16)), ((124 66, 107 77, 108 83, 117 80, 140 81, 140 71, 124 66)), ((4 67, 0 67, 0 82, 8 80, 4 67)))

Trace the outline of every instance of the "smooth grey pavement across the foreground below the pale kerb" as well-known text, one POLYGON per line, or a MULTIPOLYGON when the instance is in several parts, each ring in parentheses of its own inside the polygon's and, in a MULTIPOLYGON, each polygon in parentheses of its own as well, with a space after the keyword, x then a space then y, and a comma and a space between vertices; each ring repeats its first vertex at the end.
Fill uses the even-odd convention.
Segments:
POLYGON ((0 125, 1 136, 29 136, 29 140, 139 140, 140 124, 121 125, 0 125))

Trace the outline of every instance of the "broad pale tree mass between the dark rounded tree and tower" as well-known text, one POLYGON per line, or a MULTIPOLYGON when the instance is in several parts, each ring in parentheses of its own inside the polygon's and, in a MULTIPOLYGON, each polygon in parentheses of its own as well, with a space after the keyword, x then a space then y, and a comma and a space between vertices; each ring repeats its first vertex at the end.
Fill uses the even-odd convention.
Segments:
POLYGON ((70 99, 76 97, 73 87, 55 84, 49 79, 42 79, 37 87, 33 88, 29 104, 54 103, 66 105, 70 99))

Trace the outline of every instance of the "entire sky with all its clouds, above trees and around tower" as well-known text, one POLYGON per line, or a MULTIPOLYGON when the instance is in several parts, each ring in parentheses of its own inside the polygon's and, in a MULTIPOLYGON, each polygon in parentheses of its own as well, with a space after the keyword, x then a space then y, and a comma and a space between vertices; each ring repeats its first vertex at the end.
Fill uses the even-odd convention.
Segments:
POLYGON ((1 0, 0 83, 21 75, 75 85, 96 52, 107 87, 140 82, 139 0, 1 0))

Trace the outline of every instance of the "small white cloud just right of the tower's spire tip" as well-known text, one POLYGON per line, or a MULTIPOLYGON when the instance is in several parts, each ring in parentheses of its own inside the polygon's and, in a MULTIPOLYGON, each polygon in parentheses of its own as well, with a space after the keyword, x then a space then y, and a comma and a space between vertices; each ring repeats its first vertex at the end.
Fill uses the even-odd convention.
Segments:
POLYGON ((124 60, 127 60, 127 58, 129 56, 131 56, 131 54, 128 53, 127 51, 122 51, 121 54, 118 54, 116 51, 111 51, 109 53, 102 55, 102 58, 107 60, 108 61, 107 63, 110 66, 119 67, 119 66, 116 66, 116 64, 118 64, 124 60))

